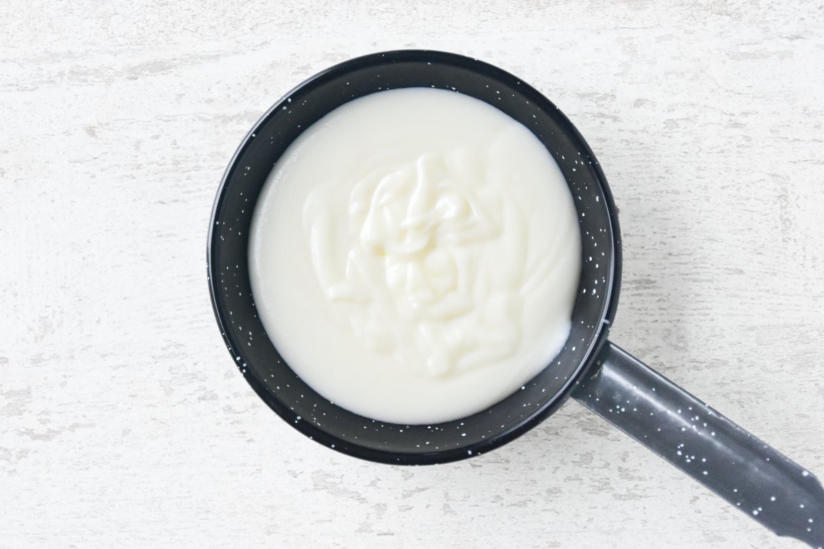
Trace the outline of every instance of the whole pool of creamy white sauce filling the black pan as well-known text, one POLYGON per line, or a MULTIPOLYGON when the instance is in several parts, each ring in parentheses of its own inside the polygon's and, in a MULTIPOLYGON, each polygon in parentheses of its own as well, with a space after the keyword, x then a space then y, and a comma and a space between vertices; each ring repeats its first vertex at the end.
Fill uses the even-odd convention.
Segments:
POLYGON ((479 412, 564 346, 581 268, 558 165, 466 95, 382 91, 313 124, 255 207, 266 331, 341 407, 424 424, 479 412))

